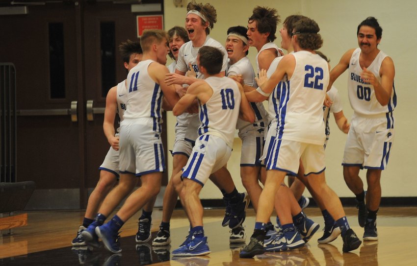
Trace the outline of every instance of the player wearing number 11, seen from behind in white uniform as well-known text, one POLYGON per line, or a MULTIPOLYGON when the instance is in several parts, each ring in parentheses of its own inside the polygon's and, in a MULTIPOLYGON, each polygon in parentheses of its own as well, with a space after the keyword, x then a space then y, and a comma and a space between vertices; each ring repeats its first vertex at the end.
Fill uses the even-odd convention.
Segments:
POLYGON ((125 120, 120 129, 120 181, 106 196, 95 221, 82 232, 86 240, 100 237, 105 247, 121 252, 117 241, 118 231, 145 203, 159 193, 162 171, 165 169, 162 147, 161 117, 162 97, 174 106, 179 97, 173 86, 163 81, 168 36, 163 30, 147 30, 141 37, 142 61, 128 74, 125 120), (141 187, 126 199, 122 208, 106 224, 102 225, 120 201, 130 193, 141 178, 141 187))

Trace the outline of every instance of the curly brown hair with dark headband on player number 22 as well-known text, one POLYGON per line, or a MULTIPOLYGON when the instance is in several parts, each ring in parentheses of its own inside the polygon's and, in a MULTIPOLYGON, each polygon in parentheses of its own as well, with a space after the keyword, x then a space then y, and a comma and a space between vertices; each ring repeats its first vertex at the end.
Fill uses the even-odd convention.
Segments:
POLYGON ((317 50, 323 45, 318 24, 310 18, 303 18, 294 24, 293 32, 297 34, 300 48, 317 50))

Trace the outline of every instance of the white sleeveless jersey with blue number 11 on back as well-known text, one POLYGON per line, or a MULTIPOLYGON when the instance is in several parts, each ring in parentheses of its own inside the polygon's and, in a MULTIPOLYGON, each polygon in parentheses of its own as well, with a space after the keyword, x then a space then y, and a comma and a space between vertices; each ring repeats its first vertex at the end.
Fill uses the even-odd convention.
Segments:
POLYGON ((141 61, 130 70, 126 101, 129 108, 125 111, 125 120, 152 118, 153 130, 161 132, 163 94, 159 84, 148 73, 149 65, 154 62, 141 61))

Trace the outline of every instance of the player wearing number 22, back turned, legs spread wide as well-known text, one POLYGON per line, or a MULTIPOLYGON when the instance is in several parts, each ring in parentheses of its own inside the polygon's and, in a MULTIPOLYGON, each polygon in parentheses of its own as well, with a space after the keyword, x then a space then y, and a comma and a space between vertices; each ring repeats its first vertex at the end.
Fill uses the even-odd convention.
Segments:
MULTIPOLYGON (((280 101, 277 135, 266 166, 267 176, 259 200, 255 230, 250 243, 240 252, 242 258, 252 258, 265 252, 265 224, 272 213, 272 200, 287 172, 295 174, 298 171, 300 158, 313 190, 327 199, 326 209, 337 220, 343 252, 354 250, 362 243, 349 227, 339 197, 324 179, 322 108, 329 84, 329 70, 327 62, 314 53, 323 43, 318 31, 318 25, 309 18, 296 22, 291 33, 294 53, 283 57, 268 81, 264 82, 265 71, 261 72, 258 82, 261 87, 257 89, 260 98, 266 99, 285 75, 287 81, 286 86, 282 86, 281 95, 285 94, 285 97, 281 97, 280 101), (285 112, 281 109, 284 106, 285 112)), ((291 240, 287 242, 287 245, 291 244, 291 240)))

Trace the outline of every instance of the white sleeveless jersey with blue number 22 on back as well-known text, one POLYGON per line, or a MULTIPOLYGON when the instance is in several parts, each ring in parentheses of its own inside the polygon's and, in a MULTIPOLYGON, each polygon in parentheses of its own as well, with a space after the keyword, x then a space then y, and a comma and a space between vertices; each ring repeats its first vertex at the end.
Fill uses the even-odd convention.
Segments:
POLYGON ((282 86, 277 139, 324 145, 323 102, 329 85, 327 62, 309 51, 292 53, 294 73, 282 86))

